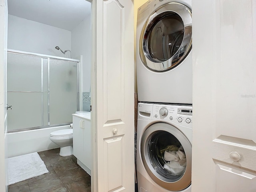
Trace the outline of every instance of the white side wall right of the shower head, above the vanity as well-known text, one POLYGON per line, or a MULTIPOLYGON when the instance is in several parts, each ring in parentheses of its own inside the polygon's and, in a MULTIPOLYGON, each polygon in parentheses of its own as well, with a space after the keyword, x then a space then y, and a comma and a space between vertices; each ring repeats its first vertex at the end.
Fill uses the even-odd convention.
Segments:
POLYGON ((82 61, 82 92, 90 91, 91 84, 91 47, 92 47, 92 32, 91 32, 91 15, 88 14, 86 18, 72 30, 71 33, 71 50, 72 57, 80 59, 80 55, 83 56, 82 61))

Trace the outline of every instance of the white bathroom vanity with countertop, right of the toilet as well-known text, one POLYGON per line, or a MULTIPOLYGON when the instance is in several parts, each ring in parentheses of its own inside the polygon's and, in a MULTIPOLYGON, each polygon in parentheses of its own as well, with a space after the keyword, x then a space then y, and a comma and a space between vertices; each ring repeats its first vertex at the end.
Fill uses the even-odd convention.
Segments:
POLYGON ((91 113, 84 112, 72 114, 72 116, 74 156, 77 158, 77 164, 91 175, 91 113))

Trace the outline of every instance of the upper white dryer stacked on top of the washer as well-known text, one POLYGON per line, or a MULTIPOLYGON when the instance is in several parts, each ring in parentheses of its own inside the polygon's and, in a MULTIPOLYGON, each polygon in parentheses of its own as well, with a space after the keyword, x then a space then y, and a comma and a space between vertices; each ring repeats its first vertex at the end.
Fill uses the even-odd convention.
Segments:
POLYGON ((138 8, 138 100, 192 104, 191 0, 150 0, 138 8))

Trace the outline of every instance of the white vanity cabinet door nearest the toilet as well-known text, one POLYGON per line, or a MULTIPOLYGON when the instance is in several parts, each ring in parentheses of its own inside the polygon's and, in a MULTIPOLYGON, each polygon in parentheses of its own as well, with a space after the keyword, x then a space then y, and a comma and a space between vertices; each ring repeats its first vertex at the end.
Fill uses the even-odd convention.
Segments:
POLYGON ((84 159, 84 125, 83 119, 73 116, 73 153, 80 161, 84 159), (82 128, 80 128, 80 126, 82 128))

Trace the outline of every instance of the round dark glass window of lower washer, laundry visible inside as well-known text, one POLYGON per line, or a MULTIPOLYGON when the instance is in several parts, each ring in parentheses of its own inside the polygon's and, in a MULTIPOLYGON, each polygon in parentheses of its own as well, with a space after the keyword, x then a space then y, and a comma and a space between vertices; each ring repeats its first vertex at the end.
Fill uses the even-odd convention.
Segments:
POLYGON ((152 167, 162 177, 175 182, 186 170, 186 154, 179 140, 169 132, 157 131, 148 142, 152 167))

